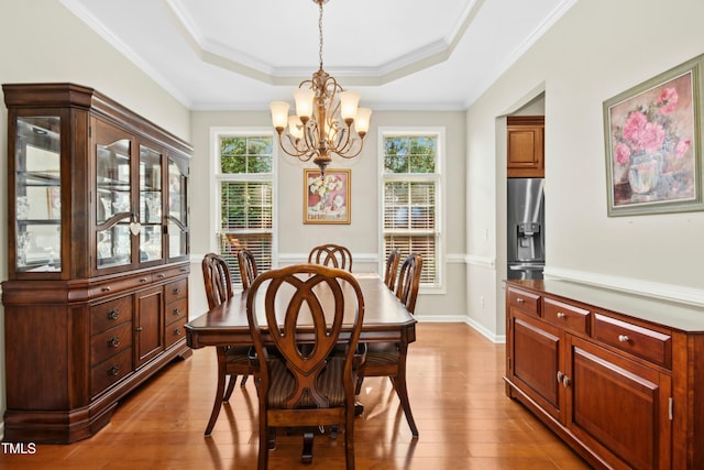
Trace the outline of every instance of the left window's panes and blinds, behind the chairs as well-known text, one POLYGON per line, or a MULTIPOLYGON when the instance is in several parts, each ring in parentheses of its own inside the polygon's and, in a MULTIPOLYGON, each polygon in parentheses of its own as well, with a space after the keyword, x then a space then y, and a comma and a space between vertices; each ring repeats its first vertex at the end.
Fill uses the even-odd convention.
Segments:
POLYGON ((252 251, 258 271, 272 267, 274 173, 271 135, 218 135, 219 253, 241 284, 237 253, 252 251))

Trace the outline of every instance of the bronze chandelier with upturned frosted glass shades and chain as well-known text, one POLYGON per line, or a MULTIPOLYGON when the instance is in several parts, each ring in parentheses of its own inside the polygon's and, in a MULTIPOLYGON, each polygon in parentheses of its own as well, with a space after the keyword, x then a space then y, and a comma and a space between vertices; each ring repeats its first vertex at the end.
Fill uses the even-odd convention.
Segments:
POLYGON ((294 91, 296 114, 288 116, 290 106, 286 101, 273 101, 270 109, 282 150, 301 162, 312 159, 324 176, 333 153, 343 159, 360 154, 372 110, 358 108, 360 95, 345 91, 334 77, 322 69, 322 4, 329 0, 312 1, 318 3, 320 11, 320 69, 294 91))

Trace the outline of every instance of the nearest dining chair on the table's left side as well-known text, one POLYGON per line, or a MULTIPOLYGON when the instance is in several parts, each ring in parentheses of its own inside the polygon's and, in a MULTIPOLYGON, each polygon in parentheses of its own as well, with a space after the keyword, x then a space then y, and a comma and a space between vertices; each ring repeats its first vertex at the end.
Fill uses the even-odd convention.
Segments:
MULTIPOLYGON (((216 253, 206 254, 201 265, 208 308, 213 308, 232 297, 232 275, 227 261, 216 253)), ((216 348, 216 353, 218 358, 218 386, 210 419, 206 426, 206 436, 210 436, 210 433, 212 433, 222 403, 230 400, 238 375, 242 375, 240 386, 244 386, 246 378, 252 374, 249 347, 219 346, 216 348), (226 391, 228 376, 230 382, 226 391)))

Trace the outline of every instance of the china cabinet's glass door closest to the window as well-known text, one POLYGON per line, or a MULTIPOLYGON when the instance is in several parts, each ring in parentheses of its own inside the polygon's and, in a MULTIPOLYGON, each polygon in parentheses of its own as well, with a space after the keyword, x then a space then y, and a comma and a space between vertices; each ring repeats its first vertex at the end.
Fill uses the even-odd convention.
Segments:
POLYGON ((187 170, 168 159, 168 256, 188 254, 187 170))

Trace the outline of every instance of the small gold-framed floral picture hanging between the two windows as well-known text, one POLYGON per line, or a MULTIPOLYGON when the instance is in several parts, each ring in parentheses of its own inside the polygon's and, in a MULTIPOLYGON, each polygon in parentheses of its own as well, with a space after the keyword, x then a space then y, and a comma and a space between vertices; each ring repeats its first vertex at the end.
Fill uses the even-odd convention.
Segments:
POLYGON ((350 223, 350 170, 304 170, 304 223, 350 223))

